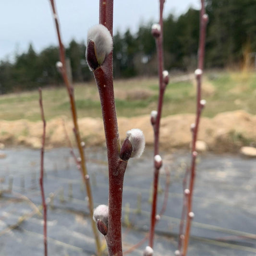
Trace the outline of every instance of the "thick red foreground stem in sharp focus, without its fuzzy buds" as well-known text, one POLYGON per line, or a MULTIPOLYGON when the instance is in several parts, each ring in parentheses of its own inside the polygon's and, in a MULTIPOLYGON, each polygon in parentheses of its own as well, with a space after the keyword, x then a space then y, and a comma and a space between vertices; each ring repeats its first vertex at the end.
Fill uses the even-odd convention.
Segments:
MULTIPOLYGON (((99 23, 113 34, 113 0, 99 1, 99 23)), ((122 189, 127 162, 119 156, 120 141, 113 89, 112 52, 94 71, 104 123, 109 166, 109 219, 105 236, 110 256, 122 256, 122 189)))

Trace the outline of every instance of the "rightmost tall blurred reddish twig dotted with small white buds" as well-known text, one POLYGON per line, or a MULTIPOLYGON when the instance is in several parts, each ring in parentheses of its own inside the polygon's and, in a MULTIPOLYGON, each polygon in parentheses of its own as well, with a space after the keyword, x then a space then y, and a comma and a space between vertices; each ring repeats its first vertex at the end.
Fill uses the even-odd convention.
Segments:
POLYGON ((204 0, 201 0, 201 11, 200 11, 200 37, 199 37, 199 48, 198 48, 198 69, 195 71, 196 82, 197 82, 197 98, 196 98, 196 117, 195 117, 195 127, 192 129, 193 139, 192 139, 192 159, 191 159, 191 171, 190 171, 190 181, 189 181, 189 195, 187 201, 187 216, 186 216, 186 229, 183 245, 183 256, 187 254, 191 220, 194 214, 192 213, 192 198, 195 182, 195 165, 196 165, 196 139, 198 134, 199 122, 201 111, 204 107, 201 101, 201 83, 202 83, 202 73, 204 66, 204 56, 205 56, 205 38, 206 38, 206 26, 207 26, 208 16, 205 14, 204 0))

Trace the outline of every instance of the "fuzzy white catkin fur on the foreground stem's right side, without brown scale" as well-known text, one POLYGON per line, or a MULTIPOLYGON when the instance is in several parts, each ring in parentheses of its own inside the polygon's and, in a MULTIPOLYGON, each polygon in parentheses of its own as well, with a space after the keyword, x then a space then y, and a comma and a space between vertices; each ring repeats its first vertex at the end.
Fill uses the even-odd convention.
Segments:
POLYGON ((145 148, 145 137, 140 129, 132 129, 126 132, 126 135, 133 146, 131 158, 139 158, 145 148))

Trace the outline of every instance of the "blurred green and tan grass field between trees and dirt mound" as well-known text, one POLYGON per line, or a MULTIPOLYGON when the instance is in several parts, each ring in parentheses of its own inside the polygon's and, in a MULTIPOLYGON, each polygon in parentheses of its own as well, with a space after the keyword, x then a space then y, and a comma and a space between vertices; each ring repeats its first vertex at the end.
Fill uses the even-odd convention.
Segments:
MULTIPOLYGON (((163 116, 195 112, 195 81, 193 76, 171 77, 164 98, 163 116)), ((118 116, 149 114, 157 109, 158 79, 134 78, 114 81, 118 116)), ((101 117, 95 82, 75 84, 79 117, 101 117)), ((256 114, 256 73, 210 72, 204 76, 202 97, 207 100, 203 116, 242 109, 256 114)), ((43 88, 46 119, 59 115, 70 117, 69 98, 63 87, 43 88)), ((0 119, 40 120, 38 92, 27 91, 0 96, 0 119)))

